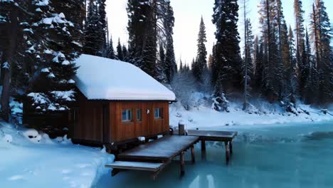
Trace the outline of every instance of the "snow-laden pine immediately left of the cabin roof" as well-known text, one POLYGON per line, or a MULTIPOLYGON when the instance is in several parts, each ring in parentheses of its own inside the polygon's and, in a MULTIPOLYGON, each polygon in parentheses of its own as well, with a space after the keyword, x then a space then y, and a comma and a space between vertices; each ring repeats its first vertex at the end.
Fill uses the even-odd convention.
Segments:
POLYGON ((73 18, 66 18, 66 9, 68 6, 56 1, 48 5, 33 1, 31 10, 36 10, 36 17, 30 29, 36 40, 29 42, 26 52, 38 68, 27 97, 36 113, 69 110, 68 104, 75 101, 75 82, 71 78, 77 69, 73 61, 80 55, 81 45, 73 33, 79 33, 80 27, 75 27, 73 18))

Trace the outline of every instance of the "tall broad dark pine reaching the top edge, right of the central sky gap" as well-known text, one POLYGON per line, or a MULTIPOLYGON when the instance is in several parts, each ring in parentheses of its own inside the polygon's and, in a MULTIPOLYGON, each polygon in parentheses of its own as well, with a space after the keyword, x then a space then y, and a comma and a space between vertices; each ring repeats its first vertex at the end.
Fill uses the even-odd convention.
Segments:
POLYGON ((216 25, 216 68, 213 85, 218 79, 226 90, 240 90, 241 58, 238 33, 238 3, 236 0, 216 0, 213 8, 213 23, 216 25))

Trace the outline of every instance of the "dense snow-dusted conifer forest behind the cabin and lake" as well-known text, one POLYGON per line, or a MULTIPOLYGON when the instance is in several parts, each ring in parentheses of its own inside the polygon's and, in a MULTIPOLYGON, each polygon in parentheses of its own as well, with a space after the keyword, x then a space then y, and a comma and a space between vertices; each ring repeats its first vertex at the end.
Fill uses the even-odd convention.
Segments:
POLYGON ((170 1, 128 0, 128 43, 112 38, 107 23, 116 18, 107 18, 105 1, 0 0, 4 120, 11 119, 13 99, 27 100, 36 113, 70 110, 75 101, 71 78, 78 68, 73 61, 82 53, 134 64, 173 90, 186 110, 196 91, 211 96, 213 109, 226 112, 229 98, 241 98, 243 110, 251 98, 279 103, 287 111, 297 103, 333 102, 332 29, 323 0, 314 1, 311 15, 294 0, 295 18, 285 18, 281 0, 261 0, 258 36, 245 1, 216 0, 213 51, 206 50, 201 19, 190 66, 176 63, 170 1), (311 18, 309 25, 305 16, 311 18), (295 19, 295 26, 286 19, 295 19))

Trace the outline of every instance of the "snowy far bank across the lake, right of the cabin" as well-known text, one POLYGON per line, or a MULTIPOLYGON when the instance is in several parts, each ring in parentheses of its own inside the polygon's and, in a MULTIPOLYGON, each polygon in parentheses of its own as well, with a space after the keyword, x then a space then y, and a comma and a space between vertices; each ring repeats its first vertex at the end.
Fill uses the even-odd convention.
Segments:
POLYGON ((322 109, 310 105, 297 105, 297 115, 286 113, 279 105, 270 104, 263 100, 255 100, 250 109, 251 113, 242 110, 242 103, 229 103, 230 113, 218 112, 211 109, 211 102, 203 100, 203 95, 196 93, 194 106, 184 110, 181 104, 170 106, 170 125, 177 126, 184 123, 186 128, 221 127, 223 125, 270 125, 288 122, 319 122, 333 120, 333 108, 324 115, 322 109), (307 112, 307 113, 305 113, 307 112))

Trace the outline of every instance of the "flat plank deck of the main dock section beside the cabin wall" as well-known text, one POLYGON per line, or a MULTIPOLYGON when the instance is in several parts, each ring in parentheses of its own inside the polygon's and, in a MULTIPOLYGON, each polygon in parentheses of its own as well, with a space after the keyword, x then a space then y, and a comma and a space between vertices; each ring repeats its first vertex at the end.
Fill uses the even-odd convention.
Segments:
POLYGON ((117 156, 118 160, 169 161, 199 141, 196 136, 165 136, 117 156))

